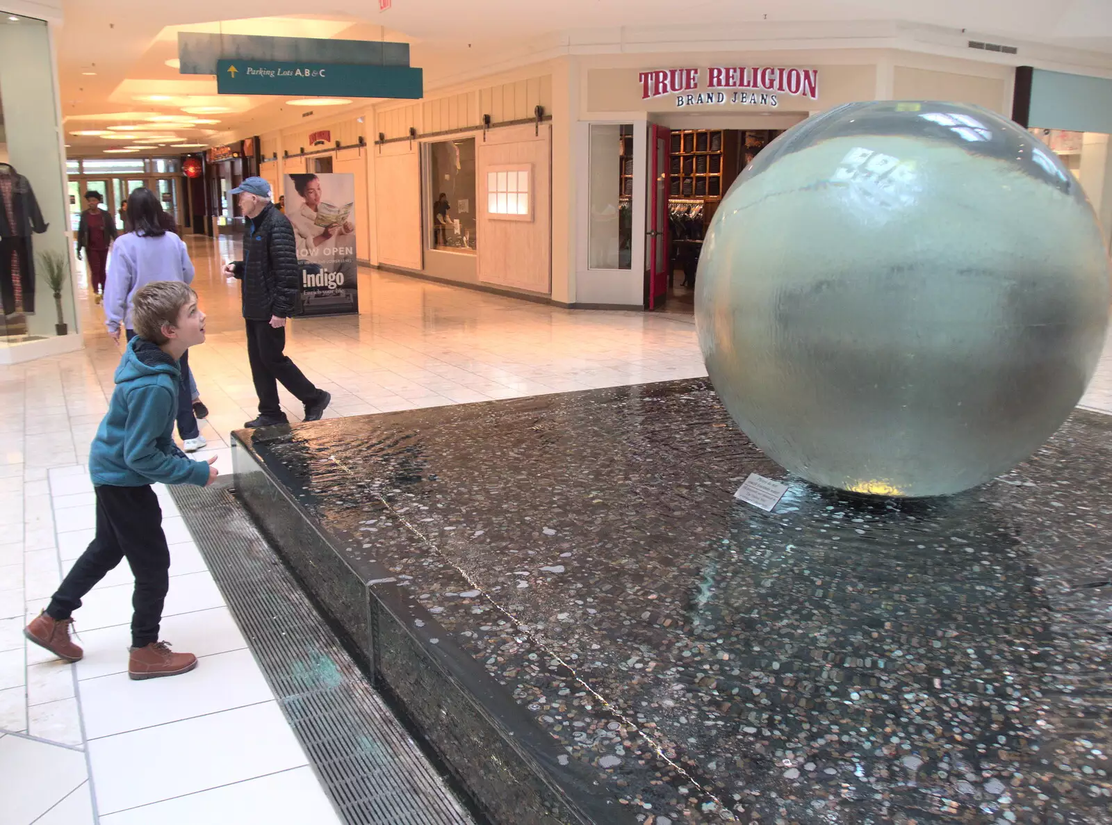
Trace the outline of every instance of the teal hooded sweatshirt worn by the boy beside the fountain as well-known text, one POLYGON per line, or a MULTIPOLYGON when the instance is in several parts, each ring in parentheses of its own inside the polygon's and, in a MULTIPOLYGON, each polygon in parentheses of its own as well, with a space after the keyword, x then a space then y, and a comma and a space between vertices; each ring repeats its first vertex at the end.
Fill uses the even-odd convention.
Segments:
POLYGON ((178 411, 178 362, 136 336, 116 368, 108 415, 89 450, 97 486, 208 484, 209 466, 193 461, 173 443, 178 411))

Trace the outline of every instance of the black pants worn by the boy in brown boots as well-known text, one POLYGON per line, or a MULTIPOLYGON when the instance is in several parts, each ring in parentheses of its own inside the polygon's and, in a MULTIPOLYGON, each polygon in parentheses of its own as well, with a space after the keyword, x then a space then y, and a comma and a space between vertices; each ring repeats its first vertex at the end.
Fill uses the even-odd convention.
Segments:
POLYGON ((166 592, 170 588, 170 548, 162 533, 162 508, 149 486, 97 487, 97 535, 73 564, 50 600, 47 615, 69 618, 121 559, 136 577, 131 606, 131 645, 158 642, 166 592))

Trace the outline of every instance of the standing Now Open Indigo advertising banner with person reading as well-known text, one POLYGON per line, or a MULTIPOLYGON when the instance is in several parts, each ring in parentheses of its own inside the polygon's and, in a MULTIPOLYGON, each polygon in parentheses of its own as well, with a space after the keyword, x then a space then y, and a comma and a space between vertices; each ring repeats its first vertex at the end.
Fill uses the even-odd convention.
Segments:
POLYGON ((297 315, 359 311, 355 262, 355 176, 287 175, 286 217, 294 225, 301 265, 297 315))

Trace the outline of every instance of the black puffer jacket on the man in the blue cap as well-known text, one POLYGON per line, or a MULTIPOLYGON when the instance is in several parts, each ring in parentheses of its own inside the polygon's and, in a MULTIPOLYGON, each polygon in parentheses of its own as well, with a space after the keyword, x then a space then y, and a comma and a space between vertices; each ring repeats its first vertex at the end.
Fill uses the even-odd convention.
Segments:
POLYGON ((244 231, 244 260, 235 262, 242 279, 244 317, 268 321, 271 316, 289 318, 297 306, 301 270, 297 265, 297 241, 289 218, 274 203, 248 219, 244 231))

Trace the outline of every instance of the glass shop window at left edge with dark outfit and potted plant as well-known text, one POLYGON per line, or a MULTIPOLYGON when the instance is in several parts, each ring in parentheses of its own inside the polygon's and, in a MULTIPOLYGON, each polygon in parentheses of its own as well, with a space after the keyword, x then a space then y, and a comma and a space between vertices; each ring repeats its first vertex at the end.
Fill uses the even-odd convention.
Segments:
POLYGON ((81 348, 52 53, 60 11, 48 22, 24 17, 19 3, 8 8, 0 13, 0 364, 81 348))

